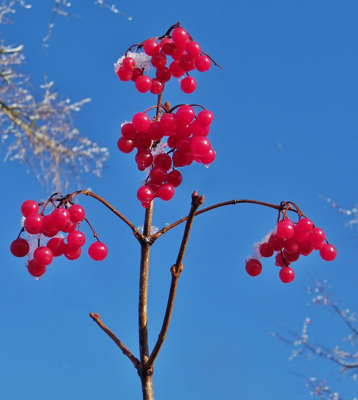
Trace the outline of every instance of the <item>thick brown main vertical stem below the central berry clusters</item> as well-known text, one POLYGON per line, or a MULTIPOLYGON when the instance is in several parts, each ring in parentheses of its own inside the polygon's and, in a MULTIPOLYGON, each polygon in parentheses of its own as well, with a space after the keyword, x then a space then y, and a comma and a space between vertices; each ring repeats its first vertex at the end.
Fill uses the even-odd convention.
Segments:
POLYGON ((144 241, 140 245, 140 274, 139 274, 139 301, 138 301, 138 329, 139 329, 139 355, 140 368, 138 374, 141 381, 143 400, 154 400, 153 384, 151 376, 153 370, 146 368, 149 358, 148 349, 148 275, 149 275, 149 252, 151 244, 151 217, 153 212, 153 202, 145 210, 143 236, 144 241))

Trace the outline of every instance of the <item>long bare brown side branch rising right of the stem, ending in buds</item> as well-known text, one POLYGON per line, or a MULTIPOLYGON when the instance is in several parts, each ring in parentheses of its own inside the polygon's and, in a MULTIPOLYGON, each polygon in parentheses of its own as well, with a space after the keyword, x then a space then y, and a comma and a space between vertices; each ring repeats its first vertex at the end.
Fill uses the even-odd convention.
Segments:
POLYGON ((165 315, 164 315, 164 320, 161 326, 160 333, 158 335, 158 339, 155 343, 155 346, 153 348, 153 351, 151 352, 151 355, 149 357, 149 360, 147 362, 147 367, 151 368, 154 364, 154 361, 161 349, 161 346, 165 340, 166 337, 166 332, 168 330, 169 322, 170 322, 170 317, 171 317, 171 312, 173 309, 173 304, 174 304, 174 299, 175 299, 175 292, 176 292, 176 285, 177 281, 179 278, 179 275, 182 271, 182 259, 184 256, 186 244, 189 238, 189 233, 190 233, 190 228, 192 221, 194 219, 196 210, 199 208, 199 206, 204 202, 204 196, 198 196, 197 191, 192 194, 191 196, 191 208, 189 215, 186 217, 186 224, 185 224, 185 229, 183 233, 183 237, 181 240, 179 252, 176 258, 175 264, 170 268, 171 272, 171 283, 170 283, 170 289, 169 289, 169 296, 168 296, 168 302, 166 304, 166 310, 165 310, 165 315))

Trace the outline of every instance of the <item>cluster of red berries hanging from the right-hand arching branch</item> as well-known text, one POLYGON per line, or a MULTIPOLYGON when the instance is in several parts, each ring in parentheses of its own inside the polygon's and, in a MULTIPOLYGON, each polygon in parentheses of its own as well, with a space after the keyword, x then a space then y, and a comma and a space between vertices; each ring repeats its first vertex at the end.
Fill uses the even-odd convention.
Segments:
POLYGON ((280 267, 279 279, 283 283, 292 282, 294 271, 290 263, 297 261, 299 256, 307 256, 313 250, 318 250, 323 260, 334 260, 337 252, 335 247, 325 243, 322 229, 313 225, 308 218, 301 218, 296 224, 290 219, 283 218, 277 223, 277 228, 257 246, 258 254, 246 260, 246 272, 257 276, 262 271, 258 261, 260 257, 271 257, 276 252, 275 265, 280 267))

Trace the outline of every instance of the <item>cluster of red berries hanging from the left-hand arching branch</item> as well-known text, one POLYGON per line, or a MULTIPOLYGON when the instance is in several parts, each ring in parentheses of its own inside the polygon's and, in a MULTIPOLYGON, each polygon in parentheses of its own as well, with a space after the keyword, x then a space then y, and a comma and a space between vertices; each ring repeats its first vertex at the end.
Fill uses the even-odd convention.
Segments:
MULTIPOLYGON (((38 245, 32 256, 29 242, 18 237, 10 244, 10 252, 15 257, 29 256, 26 266, 30 275, 42 276, 53 257, 63 254, 68 260, 76 260, 80 256, 85 236, 76 227, 78 225, 79 229, 79 223, 84 219, 83 207, 72 204, 68 209, 59 207, 50 214, 43 215, 43 211, 39 213, 38 203, 26 200, 21 205, 21 214, 24 217, 23 230, 29 235, 36 235, 34 239, 38 245), (65 233, 66 237, 60 232, 65 233), (41 246, 40 242, 45 242, 45 238, 51 239, 45 246, 41 246)), ((88 255, 92 260, 101 261, 107 255, 107 248, 103 243, 96 241, 89 246, 88 255)))

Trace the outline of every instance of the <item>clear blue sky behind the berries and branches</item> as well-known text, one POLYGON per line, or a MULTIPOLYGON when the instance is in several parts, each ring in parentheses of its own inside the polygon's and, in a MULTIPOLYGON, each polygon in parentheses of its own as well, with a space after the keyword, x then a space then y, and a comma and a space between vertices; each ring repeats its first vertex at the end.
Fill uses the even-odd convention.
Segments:
MULTIPOLYGON (((276 212, 236 205, 199 216, 184 257, 167 339, 155 364, 154 394, 160 399, 305 399, 304 379, 325 377, 345 399, 356 383, 340 381, 337 369, 321 360, 288 362, 290 348, 268 336, 274 322, 300 329, 312 320, 312 341, 333 346, 344 325, 324 308, 306 307, 305 288, 326 278, 344 307, 356 308, 357 233, 320 195, 352 207, 358 198, 356 1, 121 2, 132 17, 114 14, 91 1, 73 0, 57 16, 49 48, 42 38, 54 1, 18 8, 14 24, 1 26, 5 44, 24 44, 23 72, 34 88, 43 76, 71 99, 91 97, 77 125, 111 157, 104 177, 82 177, 83 188, 109 201, 135 225, 143 209, 135 193, 143 175, 133 155, 116 149, 120 123, 155 104, 132 82, 120 82, 113 62, 130 44, 161 35, 177 20, 223 71, 193 73, 191 95, 167 85, 164 100, 199 103, 215 118, 209 138, 216 160, 208 168, 182 168, 183 184, 172 201, 154 204, 153 225, 162 227, 187 214, 197 189, 205 204, 248 198, 296 202, 336 245, 337 258, 301 257, 296 278, 284 285, 274 260, 263 261, 257 278, 244 270, 252 244, 274 227, 276 212), (76 17, 78 16, 78 17, 76 17), (332 368, 333 367, 333 368, 332 368)), ((4 155, 4 148, 1 155, 4 155)), ((94 199, 79 199, 100 240, 105 261, 84 254, 77 261, 55 259, 38 282, 23 260, 9 253, 20 229, 19 207, 28 198, 50 194, 25 168, 1 163, 0 233, 0 398, 140 399, 140 382, 130 362, 90 320, 103 322, 138 356, 137 286, 139 246, 130 230, 94 199)), ((72 185, 76 189, 75 184, 72 185)), ((70 191, 71 188, 69 189, 70 191)), ((183 226, 163 235, 152 248, 148 330, 155 343, 164 315, 183 226)), ((85 231, 90 237, 90 232, 85 231)))

